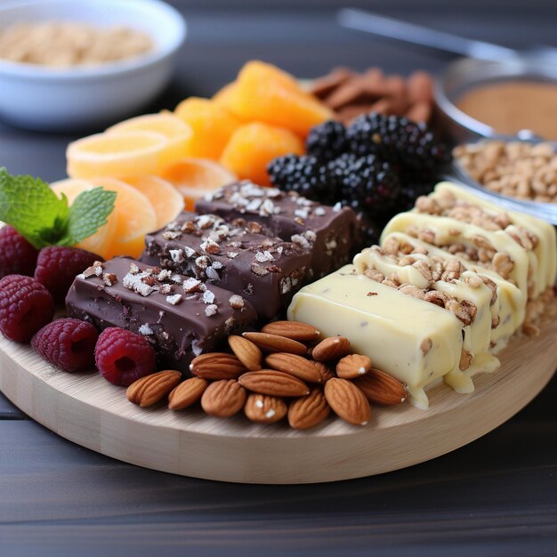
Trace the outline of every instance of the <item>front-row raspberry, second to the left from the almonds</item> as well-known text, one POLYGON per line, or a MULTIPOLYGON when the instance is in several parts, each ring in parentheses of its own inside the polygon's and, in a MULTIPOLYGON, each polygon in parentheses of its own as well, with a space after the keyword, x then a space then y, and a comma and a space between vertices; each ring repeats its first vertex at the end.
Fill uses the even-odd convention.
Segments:
POLYGON ((80 319, 56 319, 31 339, 38 354, 53 366, 74 372, 93 367, 94 348, 99 333, 80 319))

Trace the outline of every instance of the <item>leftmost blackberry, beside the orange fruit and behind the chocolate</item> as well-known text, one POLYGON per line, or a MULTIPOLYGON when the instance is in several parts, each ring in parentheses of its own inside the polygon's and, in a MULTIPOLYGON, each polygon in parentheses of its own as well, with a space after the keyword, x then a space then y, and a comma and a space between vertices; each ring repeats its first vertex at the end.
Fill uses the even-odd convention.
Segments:
POLYGON ((296 191, 304 198, 331 204, 335 188, 327 165, 317 157, 287 155, 277 157, 267 166, 270 182, 285 191, 296 191))

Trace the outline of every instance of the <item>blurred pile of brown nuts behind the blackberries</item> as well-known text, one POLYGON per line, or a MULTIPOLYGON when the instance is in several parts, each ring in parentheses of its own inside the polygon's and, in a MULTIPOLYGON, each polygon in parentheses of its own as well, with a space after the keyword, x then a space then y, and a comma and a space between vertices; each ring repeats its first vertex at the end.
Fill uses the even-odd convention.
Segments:
POLYGON ((311 93, 336 112, 343 124, 368 112, 407 117, 414 122, 429 122, 432 117, 433 81, 424 71, 410 77, 384 76, 380 68, 359 74, 335 68, 315 79, 311 93))

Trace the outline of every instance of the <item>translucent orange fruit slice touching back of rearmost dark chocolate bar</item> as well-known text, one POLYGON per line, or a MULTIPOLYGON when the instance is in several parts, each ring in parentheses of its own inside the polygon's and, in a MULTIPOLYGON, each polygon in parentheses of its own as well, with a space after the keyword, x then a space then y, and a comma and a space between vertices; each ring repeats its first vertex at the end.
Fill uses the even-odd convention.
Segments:
POLYGON ((207 158, 183 158, 168 166, 161 177, 182 194, 188 211, 192 211, 195 202, 206 193, 238 180, 230 170, 207 158))

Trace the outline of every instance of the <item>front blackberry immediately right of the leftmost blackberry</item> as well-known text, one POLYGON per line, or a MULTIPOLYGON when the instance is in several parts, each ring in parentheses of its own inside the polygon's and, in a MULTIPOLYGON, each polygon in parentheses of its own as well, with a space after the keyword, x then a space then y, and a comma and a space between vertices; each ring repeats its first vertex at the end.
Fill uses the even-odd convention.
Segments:
POLYGON ((375 155, 346 153, 328 165, 341 203, 375 221, 391 214, 400 193, 400 179, 389 163, 375 155))

